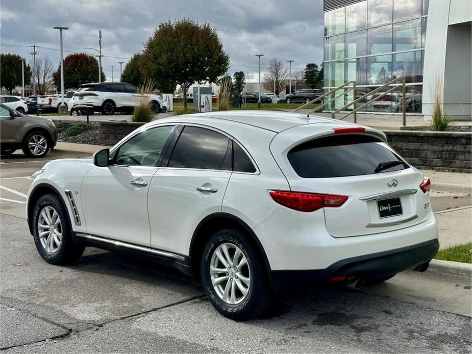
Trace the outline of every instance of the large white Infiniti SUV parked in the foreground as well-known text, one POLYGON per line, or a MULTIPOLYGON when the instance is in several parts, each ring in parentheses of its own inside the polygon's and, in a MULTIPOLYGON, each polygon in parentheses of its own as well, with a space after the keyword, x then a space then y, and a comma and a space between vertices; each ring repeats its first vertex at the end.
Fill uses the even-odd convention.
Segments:
POLYGON ((429 189, 378 130, 213 112, 145 124, 93 160, 48 162, 27 217, 46 262, 85 246, 153 258, 200 276, 221 314, 244 319, 290 284, 426 270, 439 248, 429 189))

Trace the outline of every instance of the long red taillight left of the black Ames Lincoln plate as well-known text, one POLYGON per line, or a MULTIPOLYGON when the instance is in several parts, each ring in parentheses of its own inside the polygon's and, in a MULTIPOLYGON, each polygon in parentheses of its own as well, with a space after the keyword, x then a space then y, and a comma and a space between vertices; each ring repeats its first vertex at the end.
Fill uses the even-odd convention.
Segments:
POLYGON ((337 208, 347 200, 343 195, 270 191, 270 196, 284 207, 311 212, 320 208, 337 208))

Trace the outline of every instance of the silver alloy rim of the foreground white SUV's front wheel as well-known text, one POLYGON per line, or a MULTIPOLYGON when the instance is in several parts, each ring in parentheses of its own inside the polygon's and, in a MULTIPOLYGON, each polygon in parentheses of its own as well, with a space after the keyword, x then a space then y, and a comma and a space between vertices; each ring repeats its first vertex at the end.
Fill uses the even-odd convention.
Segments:
POLYGON ((38 218, 38 236, 48 253, 56 252, 62 242, 62 222, 53 207, 44 207, 38 218))

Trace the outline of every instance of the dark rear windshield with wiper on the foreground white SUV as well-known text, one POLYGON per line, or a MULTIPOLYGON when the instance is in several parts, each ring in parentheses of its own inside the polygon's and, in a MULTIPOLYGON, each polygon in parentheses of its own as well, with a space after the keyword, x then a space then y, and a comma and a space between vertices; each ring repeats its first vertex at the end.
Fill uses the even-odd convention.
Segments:
POLYGON ((303 178, 373 174, 379 164, 389 161, 402 163, 378 173, 409 167, 387 144, 362 135, 343 134, 310 140, 291 149, 287 157, 296 174, 303 178))

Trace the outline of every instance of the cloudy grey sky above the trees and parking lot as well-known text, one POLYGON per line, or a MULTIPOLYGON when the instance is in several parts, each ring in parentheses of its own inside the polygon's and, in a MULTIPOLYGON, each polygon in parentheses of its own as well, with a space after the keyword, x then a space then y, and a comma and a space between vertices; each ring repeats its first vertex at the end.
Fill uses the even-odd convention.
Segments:
POLYGON ((102 30, 103 69, 111 80, 114 65, 116 80, 117 62, 141 52, 159 23, 182 17, 209 22, 230 56, 229 73, 242 70, 247 81, 257 81, 255 54, 264 54, 262 69, 270 58, 294 60, 292 70, 323 59, 321 0, 2 0, 0 49, 31 60, 31 48, 25 46, 36 44, 40 56, 57 66, 59 31, 54 26, 69 27, 64 50, 90 54, 84 47, 98 48, 102 30))

